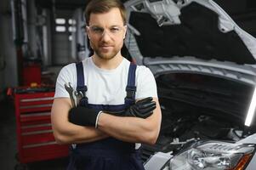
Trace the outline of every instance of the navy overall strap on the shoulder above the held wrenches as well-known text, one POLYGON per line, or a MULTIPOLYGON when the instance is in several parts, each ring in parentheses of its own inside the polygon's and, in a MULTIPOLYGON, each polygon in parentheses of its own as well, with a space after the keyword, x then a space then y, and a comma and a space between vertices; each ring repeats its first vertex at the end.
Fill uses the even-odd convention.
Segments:
POLYGON ((84 74, 82 62, 76 64, 77 67, 77 93, 82 93, 82 99, 79 105, 88 105, 88 98, 86 97, 87 86, 84 84, 84 74))

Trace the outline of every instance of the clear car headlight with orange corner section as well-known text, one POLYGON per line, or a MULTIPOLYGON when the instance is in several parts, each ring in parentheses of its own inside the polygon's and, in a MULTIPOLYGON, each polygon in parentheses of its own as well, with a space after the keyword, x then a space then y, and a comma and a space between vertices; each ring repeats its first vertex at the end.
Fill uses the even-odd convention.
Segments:
POLYGON ((242 170, 254 153, 254 144, 211 141, 196 145, 171 159, 171 170, 242 170))

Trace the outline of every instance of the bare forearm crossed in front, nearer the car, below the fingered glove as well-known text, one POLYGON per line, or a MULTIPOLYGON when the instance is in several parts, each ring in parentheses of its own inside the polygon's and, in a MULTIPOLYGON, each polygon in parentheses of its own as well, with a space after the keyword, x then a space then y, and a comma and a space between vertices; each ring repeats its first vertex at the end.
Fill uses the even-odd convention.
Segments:
POLYGON ((143 119, 138 117, 100 115, 98 128, 110 136, 127 142, 155 144, 161 124, 161 111, 156 108, 154 114, 143 119))

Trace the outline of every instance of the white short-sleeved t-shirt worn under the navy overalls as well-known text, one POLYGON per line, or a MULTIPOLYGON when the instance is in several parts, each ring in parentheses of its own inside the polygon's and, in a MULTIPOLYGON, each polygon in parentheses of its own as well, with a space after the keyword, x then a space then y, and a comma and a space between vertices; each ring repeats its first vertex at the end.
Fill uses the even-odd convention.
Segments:
MULTIPOLYGON (((100 69, 94 65, 92 58, 82 61, 84 82, 87 85, 88 103, 94 105, 122 105, 126 97, 126 86, 128 82, 128 70, 130 62, 123 58, 122 63, 113 70, 100 69)), ((54 98, 69 98, 64 84, 71 82, 77 89, 76 64, 65 65, 57 78, 54 98)), ((144 65, 137 65, 135 78, 135 99, 156 97, 156 81, 150 69, 144 65)))

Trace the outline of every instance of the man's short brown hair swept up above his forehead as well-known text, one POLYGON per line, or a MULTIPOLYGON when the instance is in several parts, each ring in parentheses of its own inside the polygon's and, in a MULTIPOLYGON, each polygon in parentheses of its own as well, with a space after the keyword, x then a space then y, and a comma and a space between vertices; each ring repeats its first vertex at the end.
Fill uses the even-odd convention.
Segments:
POLYGON ((126 10, 120 0, 91 0, 85 8, 84 17, 88 25, 90 14, 107 13, 111 8, 119 8, 123 23, 126 23, 126 10))

